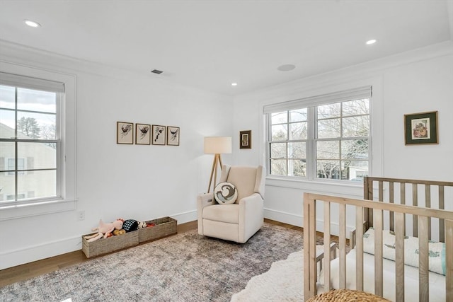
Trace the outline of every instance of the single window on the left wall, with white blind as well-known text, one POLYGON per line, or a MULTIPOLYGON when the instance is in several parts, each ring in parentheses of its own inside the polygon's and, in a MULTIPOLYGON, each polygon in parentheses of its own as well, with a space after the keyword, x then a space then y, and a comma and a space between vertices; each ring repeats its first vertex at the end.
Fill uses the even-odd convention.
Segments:
POLYGON ((0 204, 62 198, 63 94, 63 83, 1 73, 0 204))

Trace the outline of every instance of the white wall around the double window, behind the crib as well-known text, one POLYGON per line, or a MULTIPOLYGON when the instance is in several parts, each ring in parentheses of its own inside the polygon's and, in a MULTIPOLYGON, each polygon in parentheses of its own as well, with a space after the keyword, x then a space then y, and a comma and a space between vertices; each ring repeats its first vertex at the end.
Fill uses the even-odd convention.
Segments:
MULTIPOLYGON (((251 129, 253 149, 234 153, 234 163, 264 164, 263 105, 373 85, 372 175, 453 180, 453 43, 445 42, 328 74, 301 79, 234 100, 234 129, 251 129), (439 112, 438 145, 405 146, 403 115, 439 112)), ((361 185, 282 181, 268 177, 265 216, 303 224, 303 193, 362 198, 361 185)), ((352 229, 352 221, 348 222, 352 229)))

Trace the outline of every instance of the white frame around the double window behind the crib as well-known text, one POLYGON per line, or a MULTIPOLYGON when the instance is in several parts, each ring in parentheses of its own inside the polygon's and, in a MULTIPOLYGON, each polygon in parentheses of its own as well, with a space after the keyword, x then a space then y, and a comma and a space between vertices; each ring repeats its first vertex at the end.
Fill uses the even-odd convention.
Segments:
MULTIPOLYGON (((343 103, 348 100, 358 100, 369 98, 369 137, 368 137, 368 163, 369 175, 372 175, 373 161, 372 161, 372 85, 360 86, 357 88, 350 88, 345 91, 337 91, 333 93, 326 93, 316 95, 308 98, 300 98, 282 103, 273 103, 263 106, 263 113, 265 114, 265 160, 267 165, 267 178, 280 179, 280 180, 299 180, 299 181, 316 181, 316 182, 331 182, 331 183, 352 183, 352 180, 338 180, 330 178, 317 178, 316 176, 316 106, 328 105, 333 103, 343 103), (285 112, 294 109, 307 108, 307 125, 308 133, 306 139, 306 176, 290 176, 290 175, 272 175, 270 174, 270 142, 271 142, 271 113, 285 112)), ((289 122, 289 121, 288 121, 289 122)), ((339 138, 341 140, 341 138, 339 138)))

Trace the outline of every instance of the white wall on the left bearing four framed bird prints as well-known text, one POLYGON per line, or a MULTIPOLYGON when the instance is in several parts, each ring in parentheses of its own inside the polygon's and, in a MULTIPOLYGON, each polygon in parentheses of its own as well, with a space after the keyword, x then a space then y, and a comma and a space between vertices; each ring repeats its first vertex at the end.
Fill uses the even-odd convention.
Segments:
MULTIPOLYGON (((2 61, 76 76, 76 209, 2 219, 0 269, 81 249, 99 219, 196 219, 212 156, 203 137, 232 135, 231 98, 53 54, 1 45, 2 61), (180 146, 116 144, 116 122, 180 127, 180 146), (84 221, 77 220, 85 211, 84 221)), ((231 163, 231 156, 224 161, 231 163)))

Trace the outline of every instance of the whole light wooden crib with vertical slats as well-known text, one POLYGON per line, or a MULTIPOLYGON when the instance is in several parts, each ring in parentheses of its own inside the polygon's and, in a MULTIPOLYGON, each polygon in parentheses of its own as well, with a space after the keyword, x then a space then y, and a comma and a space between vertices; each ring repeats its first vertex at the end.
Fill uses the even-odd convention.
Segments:
MULTIPOLYGON (((331 206, 338 204, 338 289, 345 289, 347 266, 355 265, 355 288, 364 290, 364 240, 368 228, 374 230, 374 293, 385 296, 382 255, 384 228, 394 232, 394 300, 405 301, 405 236, 418 238, 418 298, 429 301, 430 268, 428 242, 431 238, 445 242, 445 301, 453 301, 453 182, 425 180, 400 180, 390 178, 365 178, 365 199, 349 199, 323 194, 304 194, 304 299, 317 294, 317 260, 322 259, 323 291, 332 288, 331 273, 331 206), (406 190, 409 187, 410 190, 406 190), (419 194, 423 190, 424 194, 419 194), (435 188, 437 190, 432 190, 435 188), (437 192, 437 194, 435 193, 437 192), (374 199, 377 192, 377 200, 374 199), (434 192, 434 194, 433 194, 434 192), (445 199, 449 203, 445 210, 445 199), (368 200, 366 200, 368 199, 368 200), (316 206, 322 205, 323 211, 316 213, 316 206), (354 259, 346 262, 346 212, 355 209, 355 231, 350 236, 351 248, 355 248, 354 259), (412 219, 406 219, 412 216, 412 219), (321 218, 322 217, 322 218, 321 218), (323 221, 324 255, 316 255, 316 219, 323 221), (384 220, 385 219, 385 220, 384 220), (438 232, 434 232, 435 222, 438 232), (408 228, 406 225, 413 225, 408 228), (353 261, 354 263, 350 263, 353 261)), ((352 255, 352 254, 351 254, 352 255)), ((367 258, 369 259, 369 258, 367 258)), ((413 269, 413 268, 411 268, 413 269)), ((368 272, 369 273, 369 272, 368 272)), ((348 285, 349 286, 349 285, 348 285)), ((349 287, 350 288, 350 287, 349 287)))

